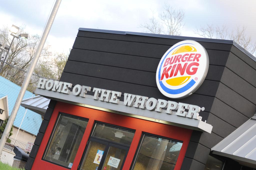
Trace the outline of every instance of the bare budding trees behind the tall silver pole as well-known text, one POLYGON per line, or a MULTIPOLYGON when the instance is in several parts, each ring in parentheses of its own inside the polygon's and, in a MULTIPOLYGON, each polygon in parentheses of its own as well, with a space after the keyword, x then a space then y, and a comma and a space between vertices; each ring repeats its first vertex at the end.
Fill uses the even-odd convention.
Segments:
MULTIPOLYGON (((9 36, 10 33, 8 30, 8 27, 3 27, 0 29, 0 41, 3 42, 3 44, 10 44, 12 40, 12 37, 9 36)), ((25 32, 24 26, 20 28, 18 34, 20 32, 25 32)), ((29 35, 28 39, 15 38, 12 47, 10 47, 10 51, 6 58, 6 63, 4 63, 4 67, 0 75, 21 86, 25 77, 25 73, 34 58, 39 40, 40 37, 38 35, 29 35)), ((40 76, 58 80, 60 78, 64 66, 61 65, 59 67, 59 60, 61 60, 63 63, 66 63, 65 59, 67 58, 68 54, 63 53, 53 55, 49 51, 49 48, 50 45, 46 43, 34 71, 34 74, 36 75, 31 77, 29 86, 27 88, 27 90, 31 92, 34 92, 36 89, 36 83, 38 82, 40 76), (66 58, 63 58, 64 56, 66 56, 66 58)))

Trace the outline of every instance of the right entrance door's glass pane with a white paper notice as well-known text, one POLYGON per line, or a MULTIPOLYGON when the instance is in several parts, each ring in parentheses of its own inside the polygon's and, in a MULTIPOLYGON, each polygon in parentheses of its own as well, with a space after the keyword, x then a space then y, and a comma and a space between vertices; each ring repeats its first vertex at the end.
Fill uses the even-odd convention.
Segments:
POLYGON ((124 149, 119 149, 119 148, 110 146, 102 169, 120 170, 122 163, 124 161, 126 152, 127 151, 124 149))

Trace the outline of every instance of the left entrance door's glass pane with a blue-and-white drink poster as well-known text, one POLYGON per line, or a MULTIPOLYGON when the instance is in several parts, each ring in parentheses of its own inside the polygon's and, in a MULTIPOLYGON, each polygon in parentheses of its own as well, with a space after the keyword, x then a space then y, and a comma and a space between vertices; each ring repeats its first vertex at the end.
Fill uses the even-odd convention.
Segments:
POLYGON ((90 141, 84 162, 81 166, 82 170, 95 170, 98 169, 101 158, 104 154, 106 145, 98 142, 90 141))

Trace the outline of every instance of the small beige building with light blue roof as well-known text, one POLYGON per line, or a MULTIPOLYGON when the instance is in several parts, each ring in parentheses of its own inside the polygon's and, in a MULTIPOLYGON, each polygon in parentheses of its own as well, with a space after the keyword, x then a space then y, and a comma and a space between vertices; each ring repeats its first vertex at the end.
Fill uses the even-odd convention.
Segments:
MULTIPOLYGON (((0 126, 2 125, 3 119, 7 118, 7 116, 9 117, 12 113, 20 88, 20 86, 0 76, 0 109, 3 110, 2 114, 0 110, 0 126)), ((33 96, 35 96, 33 93, 26 91, 23 99, 31 98, 33 96)), ((28 109, 24 117, 25 112, 26 109, 20 106, 13 124, 13 135, 10 136, 10 138, 16 137, 18 128, 20 127, 16 140, 23 143, 34 143, 42 123, 42 117, 36 112, 28 109), (24 120, 22 122, 23 117, 24 120)))

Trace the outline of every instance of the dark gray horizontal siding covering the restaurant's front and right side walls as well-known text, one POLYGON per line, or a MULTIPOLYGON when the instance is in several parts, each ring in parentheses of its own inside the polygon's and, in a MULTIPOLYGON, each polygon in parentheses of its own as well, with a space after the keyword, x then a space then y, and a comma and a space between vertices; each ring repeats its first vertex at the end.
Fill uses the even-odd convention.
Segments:
MULTIPOLYGON (((156 86, 155 72, 163 54, 179 41, 79 31, 61 81, 168 100, 156 86)), ((232 44, 198 42, 209 55, 206 80, 191 96, 174 101, 205 107, 200 116, 213 130, 193 132, 183 170, 204 169, 210 149, 256 109, 255 61, 232 44)))

